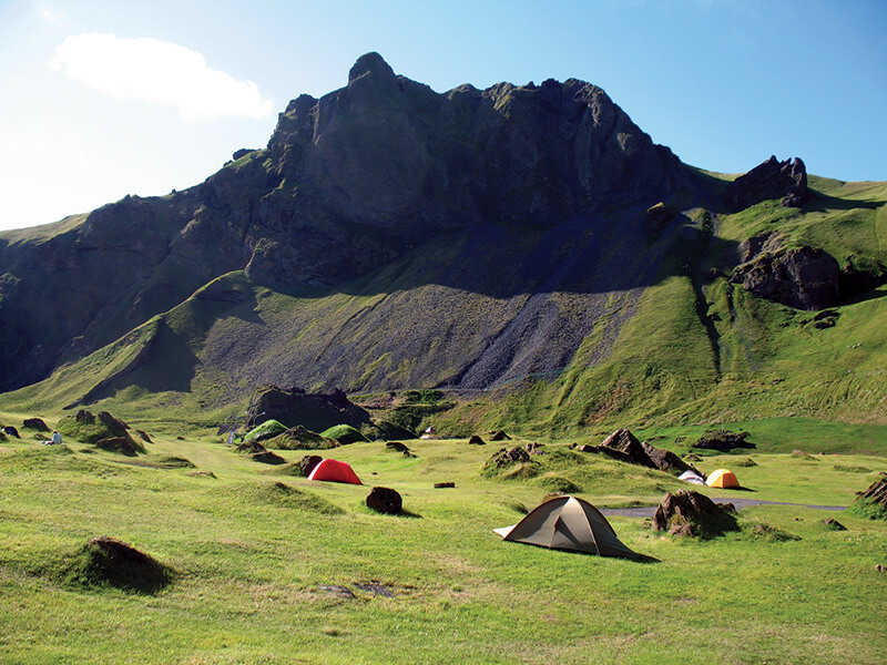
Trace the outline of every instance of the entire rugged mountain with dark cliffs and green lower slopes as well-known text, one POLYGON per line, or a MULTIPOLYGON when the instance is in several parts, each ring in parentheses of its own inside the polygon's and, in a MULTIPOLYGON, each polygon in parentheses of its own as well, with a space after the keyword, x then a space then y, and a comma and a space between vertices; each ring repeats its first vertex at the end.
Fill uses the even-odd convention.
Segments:
POLYGON ((0 234, 0 405, 215 412, 275 383, 495 395, 478 418, 555 428, 880 421, 885 203, 797 158, 684 165, 589 83, 441 94, 368 53, 196 187, 0 234), (798 334, 869 332, 869 397, 835 400, 847 358, 828 389, 796 366, 798 334))

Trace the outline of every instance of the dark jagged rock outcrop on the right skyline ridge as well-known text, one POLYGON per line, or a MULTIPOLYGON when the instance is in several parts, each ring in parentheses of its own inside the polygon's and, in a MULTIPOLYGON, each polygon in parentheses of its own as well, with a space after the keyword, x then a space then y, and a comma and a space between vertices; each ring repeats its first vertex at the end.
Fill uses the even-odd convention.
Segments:
POLYGON ((725 196, 734 212, 772 198, 784 206, 801 207, 809 198, 807 170, 797 157, 779 162, 771 156, 727 185, 725 196))

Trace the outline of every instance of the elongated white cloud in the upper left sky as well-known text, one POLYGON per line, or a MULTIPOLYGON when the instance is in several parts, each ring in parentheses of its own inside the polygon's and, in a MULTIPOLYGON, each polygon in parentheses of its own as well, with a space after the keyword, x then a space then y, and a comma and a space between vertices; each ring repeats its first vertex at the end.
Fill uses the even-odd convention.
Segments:
POLYGON ((50 66, 120 101, 175 106, 188 121, 263 117, 273 108, 252 81, 238 81, 211 69, 196 51, 153 38, 68 37, 50 66))

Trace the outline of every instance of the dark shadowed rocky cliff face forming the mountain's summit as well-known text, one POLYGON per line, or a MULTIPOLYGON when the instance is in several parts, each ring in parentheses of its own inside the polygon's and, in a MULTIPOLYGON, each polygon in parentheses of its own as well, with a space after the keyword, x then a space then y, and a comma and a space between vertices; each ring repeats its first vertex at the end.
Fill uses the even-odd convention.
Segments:
POLYGON ((335 285, 441 232, 645 207, 690 177, 594 85, 439 94, 376 53, 346 88, 290 102, 267 147, 243 152, 191 190, 0 234, 0 391, 231 270, 335 285))

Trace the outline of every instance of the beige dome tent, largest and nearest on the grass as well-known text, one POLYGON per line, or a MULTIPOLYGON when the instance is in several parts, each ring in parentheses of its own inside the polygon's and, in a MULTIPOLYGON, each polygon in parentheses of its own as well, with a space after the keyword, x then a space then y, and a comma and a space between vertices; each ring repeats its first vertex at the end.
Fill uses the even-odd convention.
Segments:
POLYGON ((507 541, 601 556, 638 556, 616 538, 601 512, 575 497, 558 497, 534 508, 513 526, 493 529, 507 541))

